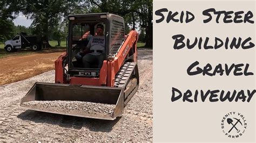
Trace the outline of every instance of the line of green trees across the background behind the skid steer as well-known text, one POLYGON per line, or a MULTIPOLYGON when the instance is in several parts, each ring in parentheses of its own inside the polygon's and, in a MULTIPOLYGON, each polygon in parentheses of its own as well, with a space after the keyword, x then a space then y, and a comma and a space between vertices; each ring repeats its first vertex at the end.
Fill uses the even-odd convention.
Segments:
POLYGON ((152 5, 152 0, 1 0, 0 41, 18 30, 26 30, 22 32, 60 42, 68 33, 68 15, 109 12, 125 18, 126 34, 131 28, 139 29, 139 40, 152 47, 152 5), (19 12, 32 20, 29 28, 15 27, 12 23, 19 12))

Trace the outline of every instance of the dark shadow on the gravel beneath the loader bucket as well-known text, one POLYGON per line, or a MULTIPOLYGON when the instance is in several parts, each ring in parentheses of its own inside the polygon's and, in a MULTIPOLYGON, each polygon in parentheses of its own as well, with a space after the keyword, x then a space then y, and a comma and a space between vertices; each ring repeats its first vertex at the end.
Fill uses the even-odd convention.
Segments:
POLYGON ((80 130, 82 127, 85 127, 93 132, 110 132, 113 126, 120 119, 119 117, 116 120, 100 120, 58 115, 55 113, 46 113, 33 110, 26 110, 17 117, 22 120, 33 121, 34 123, 52 124, 65 128, 75 128, 76 130, 80 130))

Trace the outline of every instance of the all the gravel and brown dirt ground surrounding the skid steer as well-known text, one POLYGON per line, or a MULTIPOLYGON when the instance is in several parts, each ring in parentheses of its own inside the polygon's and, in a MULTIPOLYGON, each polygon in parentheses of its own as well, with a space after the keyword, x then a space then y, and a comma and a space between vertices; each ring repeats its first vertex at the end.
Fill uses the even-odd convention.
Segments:
POLYGON ((55 71, 47 70, 53 69, 53 62, 62 52, 45 52, 0 59, 2 66, 0 77, 1 81, 5 80, 2 84, 12 82, 0 85, 0 142, 152 142, 152 49, 139 49, 138 52, 139 89, 125 106, 123 116, 114 121, 57 115, 26 110, 19 106, 21 98, 35 82, 54 82, 55 71), (9 73, 9 76, 5 76, 3 71, 9 73), (18 81, 24 78, 27 79, 18 81))

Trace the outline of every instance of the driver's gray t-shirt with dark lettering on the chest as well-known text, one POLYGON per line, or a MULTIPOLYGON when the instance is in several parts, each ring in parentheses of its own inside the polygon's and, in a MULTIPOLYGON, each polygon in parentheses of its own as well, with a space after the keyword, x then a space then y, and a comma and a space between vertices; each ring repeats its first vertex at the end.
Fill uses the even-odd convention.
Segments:
POLYGON ((94 50, 94 52, 89 53, 91 55, 100 55, 102 53, 98 53, 96 50, 101 50, 103 53, 105 52, 105 35, 102 36, 93 36, 86 47, 89 47, 90 50, 94 50))

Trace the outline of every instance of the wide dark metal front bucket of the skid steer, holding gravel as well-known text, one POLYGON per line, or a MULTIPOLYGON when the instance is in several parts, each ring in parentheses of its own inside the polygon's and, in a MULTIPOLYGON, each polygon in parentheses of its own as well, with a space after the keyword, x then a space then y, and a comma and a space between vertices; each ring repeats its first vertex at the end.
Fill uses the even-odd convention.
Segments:
POLYGON ((21 106, 62 115, 114 120, 123 114, 123 88, 35 83, 21 106))

